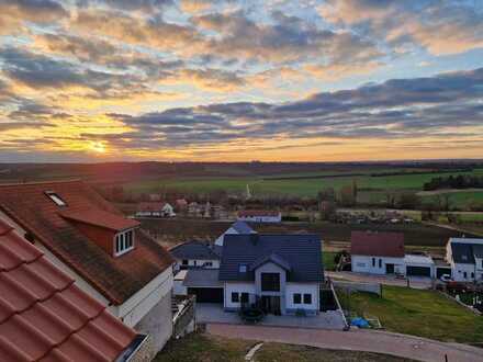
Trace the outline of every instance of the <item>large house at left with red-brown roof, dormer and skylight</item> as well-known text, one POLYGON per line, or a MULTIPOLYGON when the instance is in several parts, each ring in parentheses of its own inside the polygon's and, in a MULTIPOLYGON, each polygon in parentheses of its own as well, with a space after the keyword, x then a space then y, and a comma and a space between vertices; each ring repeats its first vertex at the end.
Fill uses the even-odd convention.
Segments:
POLYGON ((136 331, 153 351, 171 337, 172 257, 139 223, 81 181, 0 185, 0 219, 76 285, 136 331))

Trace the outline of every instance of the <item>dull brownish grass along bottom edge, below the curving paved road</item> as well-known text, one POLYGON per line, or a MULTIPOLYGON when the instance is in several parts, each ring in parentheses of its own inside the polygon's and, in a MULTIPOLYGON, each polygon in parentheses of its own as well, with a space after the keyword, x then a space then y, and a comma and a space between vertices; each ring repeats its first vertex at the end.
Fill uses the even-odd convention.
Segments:
MULTIPOLYGON (((202 333, 191 333, 170 341, 154 362, 242 362, 255 341, 226 339, 202 333)), ((255 354, 257 362, 408 362, 409 360, 358 351, 325 350, 304 346, 265 343, 255 354)))

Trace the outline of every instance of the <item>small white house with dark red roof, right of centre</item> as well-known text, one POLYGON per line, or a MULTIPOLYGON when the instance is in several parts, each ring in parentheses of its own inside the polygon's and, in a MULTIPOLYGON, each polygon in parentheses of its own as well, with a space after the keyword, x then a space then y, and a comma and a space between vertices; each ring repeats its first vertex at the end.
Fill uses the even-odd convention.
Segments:
POLYGON ((405 274, 404 235, 400 233, 352 231, 352 272, 405 274))

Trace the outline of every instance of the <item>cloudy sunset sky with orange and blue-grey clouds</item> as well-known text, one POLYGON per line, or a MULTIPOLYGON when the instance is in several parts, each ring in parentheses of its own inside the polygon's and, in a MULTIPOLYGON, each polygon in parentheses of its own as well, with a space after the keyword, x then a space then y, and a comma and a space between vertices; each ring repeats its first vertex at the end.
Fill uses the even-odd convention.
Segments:
POLYGON ((480 0, 0 0, 0 161, 476 157, 480 0))

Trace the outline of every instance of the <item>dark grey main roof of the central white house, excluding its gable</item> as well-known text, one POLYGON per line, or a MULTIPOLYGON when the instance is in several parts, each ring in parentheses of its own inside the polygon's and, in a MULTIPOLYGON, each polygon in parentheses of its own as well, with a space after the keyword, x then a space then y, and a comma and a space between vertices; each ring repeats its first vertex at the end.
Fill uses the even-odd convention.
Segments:
POLYGON ((254 281, 252 270, 239 271, 239 265, 252 265, 267 258, 290 268, 289 282, 322 282, 324 280, 321 238, 317 235, 225 235, 221 281, 254 281), (277 256, 277 257, 273 257, 277 256))

